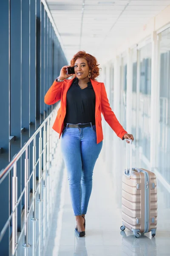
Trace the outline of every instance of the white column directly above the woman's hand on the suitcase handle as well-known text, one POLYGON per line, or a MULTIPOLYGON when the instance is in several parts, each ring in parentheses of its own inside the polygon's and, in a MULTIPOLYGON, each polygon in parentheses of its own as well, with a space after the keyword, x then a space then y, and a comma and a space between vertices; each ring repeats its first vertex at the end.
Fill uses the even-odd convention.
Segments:
POLYGON ((132 133, 132 50, 127 50, 126 131, 132 133))

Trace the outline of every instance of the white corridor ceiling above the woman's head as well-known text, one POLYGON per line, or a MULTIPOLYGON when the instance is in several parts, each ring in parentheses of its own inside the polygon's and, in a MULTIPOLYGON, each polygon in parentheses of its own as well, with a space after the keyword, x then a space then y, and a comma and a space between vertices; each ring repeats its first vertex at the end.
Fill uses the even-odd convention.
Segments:
POLYGON ((46 0, 61 36, 67 59, 78 50, 94 55, 100 64, 170 0, 46 0))

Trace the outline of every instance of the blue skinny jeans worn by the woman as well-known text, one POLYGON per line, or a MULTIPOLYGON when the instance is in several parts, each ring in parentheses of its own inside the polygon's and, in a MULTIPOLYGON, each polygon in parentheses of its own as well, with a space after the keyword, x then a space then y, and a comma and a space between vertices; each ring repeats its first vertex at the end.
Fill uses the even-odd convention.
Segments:
POLYGON ((103 142, 96 143, 96 125, 84 128, 64 127, 61 150, 68 172, 74 215, 86 214, 92 190, 94 165, 103 142))

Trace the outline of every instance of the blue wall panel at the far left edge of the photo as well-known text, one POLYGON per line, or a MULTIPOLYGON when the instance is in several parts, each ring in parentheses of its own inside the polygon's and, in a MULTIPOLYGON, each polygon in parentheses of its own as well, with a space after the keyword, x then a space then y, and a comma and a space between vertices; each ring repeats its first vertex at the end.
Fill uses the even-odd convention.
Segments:
MULTIPOLYGON (((9 2, 0 8, 0 170, 9 160, 9 2), (3 111, 2 111, 3 110, 3 111)), ((9 216, 9 176, 0 184, 0 231, 9 216)), ((9 228, 0 243, 0 255, 9 254, 9 228)))

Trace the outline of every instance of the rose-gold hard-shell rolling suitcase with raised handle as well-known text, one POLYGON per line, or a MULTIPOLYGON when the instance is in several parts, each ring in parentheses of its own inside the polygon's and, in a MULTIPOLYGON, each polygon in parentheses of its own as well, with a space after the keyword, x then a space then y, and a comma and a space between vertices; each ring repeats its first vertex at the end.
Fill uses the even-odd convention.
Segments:
MULTIPOLYGON (((130 169, 122 178, 122 224, 121 230, 131 230, 136 238, 139 233, 152 232, 157 227, 156 175, 145 169, 132 168, 132 140, 130 141, 130 169)), ((128 144, 126 145, 128 147, 128 144)), ((128 148, 126 162, 128 163, 128 148)))

